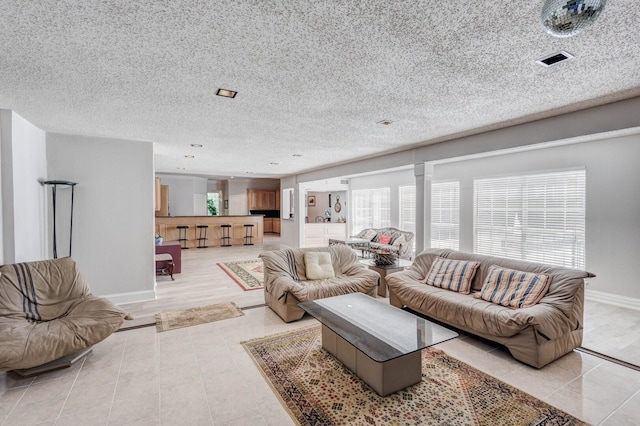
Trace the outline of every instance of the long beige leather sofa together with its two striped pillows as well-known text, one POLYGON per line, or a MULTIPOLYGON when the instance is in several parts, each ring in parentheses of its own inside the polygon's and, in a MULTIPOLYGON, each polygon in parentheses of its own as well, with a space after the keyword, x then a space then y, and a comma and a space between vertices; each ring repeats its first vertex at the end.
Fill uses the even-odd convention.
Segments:
POLYGON ((411 267, 386 280, 392 305, 502 344, 514 358, 540 368, 582 343, 584 279, 593 276, 558 266, 428 249, 411 267), (469 294, 461 272, 466 268, 468 274, 474 264, 464 261, 478 263, 469 294))

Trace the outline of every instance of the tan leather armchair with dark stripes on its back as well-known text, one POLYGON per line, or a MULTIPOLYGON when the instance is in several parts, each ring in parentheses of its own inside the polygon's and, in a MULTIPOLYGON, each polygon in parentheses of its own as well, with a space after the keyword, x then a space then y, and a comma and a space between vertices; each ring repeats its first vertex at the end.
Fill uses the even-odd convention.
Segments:
POLYGON ((127 316, 93 296, 67 257, 0 267, 0 371, 28 369, 106 339, 127 316))

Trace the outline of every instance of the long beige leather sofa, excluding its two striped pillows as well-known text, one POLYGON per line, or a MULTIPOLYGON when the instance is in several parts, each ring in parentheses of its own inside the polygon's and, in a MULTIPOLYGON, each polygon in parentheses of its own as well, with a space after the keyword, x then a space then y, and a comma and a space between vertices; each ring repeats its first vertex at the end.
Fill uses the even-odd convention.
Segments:
POLYGON ((433 319, 495 341, 514 358, 542 367, 582 343, 584 279, 588 272, 498 257, 429 249, 413 265, 386 277, 390 303, 408 307, 433 319), (424 280, 436 258, 480 262, 471 282, 471 294, 431 285, 424 280), (549 290, 535 305, 513 309, 474 297, 491 265, 551 276, 549 290))

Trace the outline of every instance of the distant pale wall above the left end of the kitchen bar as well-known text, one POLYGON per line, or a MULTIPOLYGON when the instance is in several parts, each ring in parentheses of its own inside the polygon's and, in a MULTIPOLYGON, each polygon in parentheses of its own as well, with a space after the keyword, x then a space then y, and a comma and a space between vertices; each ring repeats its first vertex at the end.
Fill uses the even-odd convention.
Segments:
POLYGON ((207 178, 157 174, 161 185, 169 185, 170 216, 206 216, 207 215, 207 178), (202 201, 204 197, 204 201, 202 201), (194 205, 199 198, 202 206, 194 205), (204 211, 203 211, 204 209, 204 211))

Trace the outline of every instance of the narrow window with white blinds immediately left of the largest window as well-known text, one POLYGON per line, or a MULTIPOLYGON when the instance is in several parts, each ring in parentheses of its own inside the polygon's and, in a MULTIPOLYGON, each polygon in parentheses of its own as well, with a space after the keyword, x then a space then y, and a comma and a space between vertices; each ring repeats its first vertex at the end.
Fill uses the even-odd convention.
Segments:
POLYGON ((460 182, 431 182, 431 247, 459 250, 460 182))

